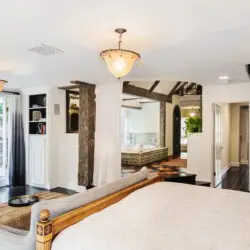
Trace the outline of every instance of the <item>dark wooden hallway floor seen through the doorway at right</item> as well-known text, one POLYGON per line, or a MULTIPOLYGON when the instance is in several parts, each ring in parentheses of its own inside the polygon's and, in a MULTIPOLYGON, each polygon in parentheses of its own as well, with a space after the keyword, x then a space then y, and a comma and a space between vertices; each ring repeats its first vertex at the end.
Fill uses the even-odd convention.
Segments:
POLYGON ((231 167, 218 188, 249 192, 249 167, 231 167))

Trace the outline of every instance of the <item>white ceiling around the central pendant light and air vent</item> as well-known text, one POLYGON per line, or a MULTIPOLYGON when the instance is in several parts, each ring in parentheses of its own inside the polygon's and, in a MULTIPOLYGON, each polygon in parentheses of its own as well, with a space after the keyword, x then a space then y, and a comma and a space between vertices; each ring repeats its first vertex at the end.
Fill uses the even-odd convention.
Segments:
POLYGON ((124 80, 248 81, 249 0, 11 0, 0 9, 0 78, 11 87, 113 81, 99 52, 116 46, 117 27, 142 56, 124 80), (27 51, 39 42, 65 53, 27 51))

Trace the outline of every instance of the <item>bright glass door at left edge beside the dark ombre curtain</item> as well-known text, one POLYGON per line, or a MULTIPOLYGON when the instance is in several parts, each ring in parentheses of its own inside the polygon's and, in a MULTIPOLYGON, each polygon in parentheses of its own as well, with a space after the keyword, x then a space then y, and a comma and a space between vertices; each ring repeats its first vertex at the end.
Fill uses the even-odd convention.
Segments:
POLYGON ((8 185, 7 141, 8 110, 6 97, 0 96, 0 187, 8 185))

